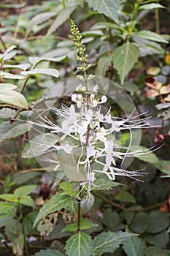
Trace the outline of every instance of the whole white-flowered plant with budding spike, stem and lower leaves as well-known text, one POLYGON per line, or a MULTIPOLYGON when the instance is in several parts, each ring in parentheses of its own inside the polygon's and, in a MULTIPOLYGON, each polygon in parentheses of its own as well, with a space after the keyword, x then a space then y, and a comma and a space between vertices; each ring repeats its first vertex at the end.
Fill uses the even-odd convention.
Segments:
MULTIPOLYGON (((76 225, 70 224, 64 227, 63 231, 77 230, 77 234, 66 242, 66 255, 72 255, 73 251, 70 250, 72 244, 77 249, 77 246, 80 248, 80 244, 84 241, 88 250, 85 255, 90 255, 92 240, 81 230, 96 225, 81 217, 83 203, 93 203, 93 190, 104 189, 100 183, 101 176, 106 177, 105 189, 110 189, 117 185, 114 184, 116 176, 137 179, 136 176, 144 174, 142 170, 128 170, 125 159, 144 157, 150 152, 150 149, 134 148, 132 145, 133 131, 148 128, 150 123, 147 121, 148 118, 140 118, 141 114, 134 115, 135 110, 132 110, 127 118, 113 116, 111 108, 107 108, 106 111, 109 98, 99 92, 97 83, 92 83, 94 76, 87 75, 87 70, 90 68, 90 64, 86 64, 88 55, 85 55, 82 35, 73 20, 71 20, 71 30, 77 47, 77 60, 82 63, 82 66, 77 68, 82 75, 78 76, 80 83, 71 95, 72 104, 69 106, 62 104, 61 108, 48 108, 35 120, 28 121, 31 126, 45 129, 44 133, 30 140, 32 156, 41 156, 42 162, 53 163, 53 175, 58 176, 58 173, 63 173, 61 179, 68 180, 60 184, 63 192, 53 195, 42 206, 34 226, 47 214, 59 212, 62 208, 72 211, 76 225), (57 124, 45 116, 45 112, 49 110, 53 111, 53 115, 58 116, 57 124), (129 134, 127 145, 122 145, 121 141, 117 140, 117 135, 124 131, 128 131, 129 134), (48 154, 51 153, 54 153, 54 158, 49 157, 48 154)), ((46 170, 50 168, 46 167, 46 170)), ((116 236, 120 239, 118 244, 134 236, 126 232, 103 235, 104 238, 108 237, 109 241, 112 241, 111 235, 113 238, 116 236)), ((84 253, 83 246, 82 252, 84 253)), ((97 253, 98 247, 94 247, 93 252, 97 253)))

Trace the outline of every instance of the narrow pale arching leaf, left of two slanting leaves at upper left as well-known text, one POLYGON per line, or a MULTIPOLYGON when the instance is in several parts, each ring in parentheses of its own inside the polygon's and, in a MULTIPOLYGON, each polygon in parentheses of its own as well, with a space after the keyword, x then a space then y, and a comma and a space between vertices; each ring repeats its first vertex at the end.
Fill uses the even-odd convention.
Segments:
POLYGON ((31 32, 31 30, 34 28, 34 26, 39 25, 46 20, 49 20, 50 18, 54 17, 56 15, 55 12, 42 12, 31 18, 30 22, 28 23, 27 29, 26 29, 26 37, 28 37, 28 34, 31 32))

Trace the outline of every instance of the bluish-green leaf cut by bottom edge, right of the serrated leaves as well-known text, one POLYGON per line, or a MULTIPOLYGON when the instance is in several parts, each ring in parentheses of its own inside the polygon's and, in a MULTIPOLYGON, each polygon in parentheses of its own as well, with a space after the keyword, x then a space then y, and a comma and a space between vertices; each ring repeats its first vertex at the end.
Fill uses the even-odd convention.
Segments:
POLYGON ((132 237, 123 242, 123 249, 128 256, 144 256, 146 244, 141 238, 132 237))

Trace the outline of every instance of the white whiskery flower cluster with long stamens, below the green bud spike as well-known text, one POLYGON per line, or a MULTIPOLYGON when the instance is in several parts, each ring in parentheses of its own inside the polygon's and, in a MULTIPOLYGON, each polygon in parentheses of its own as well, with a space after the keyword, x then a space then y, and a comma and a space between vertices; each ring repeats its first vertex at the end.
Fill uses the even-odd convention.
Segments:
MULTIPOLYGON (((62 150, 65 154, 74 155, 75 148, 80 148, 77 173, 80 171, 85 173, 86 181, 83 181, 85 183, 93 185, 98 173, 104 173, 110 180, 115 180, 115 176, 134 178, 142 175, 141 171, 124 170, 120 164, 117 166, 117 159, 123 163, 126 157, 137 157, 148 153, 149 150, 131 148, 131 131, 147 128, 150 123, 147 122, 147 118, 139 119, 140 115, 133 116, 133 113, 128 118, 116 118, 112 116, 111 110, 102 113, 101 105, 107 102, 107 97, 103 95, 101 99, 97 98, 95 95, 97 91, 97 85, 89 91, 87 106, 86 91, 80 84, 77 86, 77 93, 72 94, 73 103, 70 107, 62 105, 61 109, 52 108, 55 114, 61 117, 60 123, 53 124, 48 118, 39 116, 41 121, 32 124, 49 129, 51 134, 58 135, 59 145, 55 145, 55 142, 53 144, 50 142, 48 145, 47 140, 44 140, 48 152, 62 150), (123 130, 128 130, 130 133, 128 147, 115 142, 117 133, 123 130)), ((43 154, 43 151, 39 151, 39 154, 43 154)), ((56 159, 55 163, 55 171, 61 169, 60 161, 56 159)))

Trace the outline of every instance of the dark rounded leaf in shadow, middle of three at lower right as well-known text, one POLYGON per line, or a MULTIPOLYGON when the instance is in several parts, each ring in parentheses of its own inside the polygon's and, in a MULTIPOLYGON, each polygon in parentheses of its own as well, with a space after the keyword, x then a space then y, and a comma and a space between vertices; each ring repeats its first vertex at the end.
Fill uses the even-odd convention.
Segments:
POLYGON ((139 212, 134 215, 131 221, 131 230, 134 231, 134 233, 142 234, 147 230, 149 222, 149 215, 145 212, 139 212))

